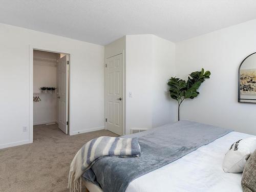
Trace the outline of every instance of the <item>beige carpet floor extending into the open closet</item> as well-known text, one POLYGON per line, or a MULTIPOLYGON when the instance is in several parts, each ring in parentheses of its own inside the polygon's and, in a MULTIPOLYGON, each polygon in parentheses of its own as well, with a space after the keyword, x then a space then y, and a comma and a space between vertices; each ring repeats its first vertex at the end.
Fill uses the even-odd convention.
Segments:
POLYGON ((34 142, 0 150, 0 191, 69 191, 70 163, 87 141, 118 136, 101 130, 69 136, 56 125, 34 126, 34 142))

